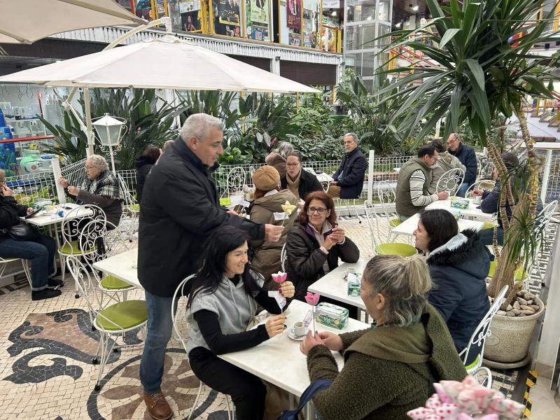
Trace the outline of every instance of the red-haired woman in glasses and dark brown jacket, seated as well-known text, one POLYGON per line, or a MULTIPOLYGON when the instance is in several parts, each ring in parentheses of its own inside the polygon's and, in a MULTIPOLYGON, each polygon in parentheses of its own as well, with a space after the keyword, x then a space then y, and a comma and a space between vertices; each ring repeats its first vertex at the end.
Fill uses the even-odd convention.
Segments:
POLYGON ((324 191, 309 193, 298 221, 286 239, 286 272, 295 283, 295 298, 304 300, 307 288, 338 267, 338 259, 356 262, 358 246, 337 225, 335 203, 324 191))

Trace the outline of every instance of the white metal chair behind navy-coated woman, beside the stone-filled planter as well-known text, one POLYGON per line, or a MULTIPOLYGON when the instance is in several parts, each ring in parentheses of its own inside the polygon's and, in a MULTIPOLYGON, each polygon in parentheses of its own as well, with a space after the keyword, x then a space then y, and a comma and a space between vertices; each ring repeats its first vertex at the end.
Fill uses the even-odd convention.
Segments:
POLYGON ((482 318, 482 321, 480 321, 480 323, 477 325, 475 332, 472 333, 468 346, 463 349, 461 353, 459 353, 459 356, 463 359, 463 363, 465 363, 465 369, 467 370, 468 374, 472 374, 472 376, 477 377, 477 375, 480 375, 482 372, 486 375, 488 380, 488 382, 486 383, 486 388, 491 388, 492 386, 492 373, 490 372, 488 367, 482 367, 482 357, 484 356, 484 342, 486 341, 486 337, 489 337, 492 333, 490 330, 490 324, 492 322, 492 318, 494 317, 494 315, 496 315, 498 309, 500 309, 500 306, 505 298, 505 293, 507 293, 507 286, 503 286, 502 290, 500 290, 489 311, 486 313, 484 318, 482 318), (476 355, 475 360, 467 365, 468 361, 472 359, 473 355, 476 355))

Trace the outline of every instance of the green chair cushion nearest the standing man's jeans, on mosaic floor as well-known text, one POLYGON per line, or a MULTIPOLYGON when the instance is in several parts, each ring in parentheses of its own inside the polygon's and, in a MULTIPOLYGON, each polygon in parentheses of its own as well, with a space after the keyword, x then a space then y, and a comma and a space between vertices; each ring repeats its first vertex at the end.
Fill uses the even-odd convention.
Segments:
POLYGON ((123 330, 134 328, 146 322, 147 319, 148 312, 144 300, 125 300, 125 302, 112 304, 103 309, 95 318, 95 322, 104 330, 118 331, 121 328, 123 330), (112 322, 109 322, 109 319, 112 322), (120 326, 113 325, 113 322, 120 326))

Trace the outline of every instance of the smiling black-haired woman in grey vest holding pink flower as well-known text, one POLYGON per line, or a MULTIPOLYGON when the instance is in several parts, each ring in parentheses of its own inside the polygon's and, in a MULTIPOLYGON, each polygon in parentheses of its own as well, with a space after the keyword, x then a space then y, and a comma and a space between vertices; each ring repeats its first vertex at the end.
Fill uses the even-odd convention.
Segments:
MULTIPOLYGON (((190 367, 204 384, 231 395, 237 419, 262 420, 266 388, 255 375, 218 358, 281 334, 286 316, 271 316, 267 323, 246 331, 260 304, 271 314, 281 309, 269 297, 264 279, 248 265, 246 233, 232 226, 218 228, 202 252, 202 267, 193 279, 187 304, 187 353, 190 367)), ((280 293, 293 297, 290 281, 280 293)))

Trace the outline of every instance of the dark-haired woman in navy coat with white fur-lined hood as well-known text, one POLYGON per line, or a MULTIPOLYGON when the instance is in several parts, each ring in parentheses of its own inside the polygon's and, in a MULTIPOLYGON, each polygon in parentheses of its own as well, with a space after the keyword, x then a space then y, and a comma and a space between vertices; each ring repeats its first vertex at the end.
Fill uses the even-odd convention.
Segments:
POLYGON ((490 309, 485 281, 490 269, 488 253, 478 232, 459 233, 455 217, 447 210, 420 214, 414 237, 416 248, 428 254, 433 281, 428 300, 442 314, 461 352, 490 309))

